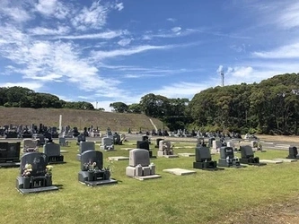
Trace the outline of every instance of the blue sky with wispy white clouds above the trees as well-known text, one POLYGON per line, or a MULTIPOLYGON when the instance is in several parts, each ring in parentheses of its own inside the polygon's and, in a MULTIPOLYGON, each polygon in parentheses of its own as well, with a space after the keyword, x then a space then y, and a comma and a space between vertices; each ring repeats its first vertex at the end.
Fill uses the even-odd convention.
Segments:
POLYGON ((0 86, 139 103, 299 72, 293 0, 1 0, 0 86))

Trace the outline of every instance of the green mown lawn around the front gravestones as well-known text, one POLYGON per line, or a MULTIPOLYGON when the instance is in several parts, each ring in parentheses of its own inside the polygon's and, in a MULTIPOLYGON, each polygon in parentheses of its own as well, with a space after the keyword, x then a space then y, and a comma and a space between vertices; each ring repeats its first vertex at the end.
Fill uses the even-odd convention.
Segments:
MULTIPOLYGON (((105 166, 110 156, 128 156, 128 151, 121 149, 135 148, 132 143, 116 146, 117 151, 104 151, 105 166)), ((150 147, 156 155, 154 144, 150 147)), ((18 224, 274 223, 271 217, 276 217, 285 205, 297 206, 294 211, 299 209, 299 162, 210 172, 193 169, 194 157, 159 158, 151 161, 162 178, 138 181, 125 174, 128 160, 113 161, 112 177, 119 184, 89 187, 78 182, 77 149, 75 142, 61 148, 68 152, 64 153, 66 164, 53 165, 53 184, 61 187, 56 192, 19 194, 14 187, 19 169, 0 168, 1 220, 18 224), (174 176, 164 173, 164 168, 187 168, 197 174, 174 176)), ((175 150, 175 154, 180 152, 194 153, 194 148, 175 150)), ((287 151, 267 150, 255 156, 286 158, 287 151)), ((213 159, 217 160, 218 155, 213 159)))

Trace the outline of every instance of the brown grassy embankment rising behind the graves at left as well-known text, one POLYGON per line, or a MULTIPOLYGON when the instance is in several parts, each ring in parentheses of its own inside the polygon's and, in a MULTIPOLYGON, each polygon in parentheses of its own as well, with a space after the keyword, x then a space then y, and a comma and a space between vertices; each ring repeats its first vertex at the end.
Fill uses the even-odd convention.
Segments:
POLYGON ((82 130, 85 126, 98 126, 101 130, 110 127, 112 131, 132 132, 152 130, 154 126, 163 128, 163 122, 156 118, 140 114, 119 114, 103 111, 85 111, 75 109, 54 108, 0 108, 0 125, 31 125, 40 123, 47 126, 58 126, 59 115, 62 115, 62 125, 77 126, 82 130))

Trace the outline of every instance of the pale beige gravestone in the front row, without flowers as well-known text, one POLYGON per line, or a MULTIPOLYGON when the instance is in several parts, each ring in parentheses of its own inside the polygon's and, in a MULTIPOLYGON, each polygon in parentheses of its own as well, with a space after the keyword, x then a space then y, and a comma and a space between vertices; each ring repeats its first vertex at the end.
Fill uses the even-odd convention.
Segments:
POLYGON ((138 180, 161 177, 155 174, 155 165, 150 163, 149 152, 144 149, 129 151, 128 167, 126 175, 138 180))

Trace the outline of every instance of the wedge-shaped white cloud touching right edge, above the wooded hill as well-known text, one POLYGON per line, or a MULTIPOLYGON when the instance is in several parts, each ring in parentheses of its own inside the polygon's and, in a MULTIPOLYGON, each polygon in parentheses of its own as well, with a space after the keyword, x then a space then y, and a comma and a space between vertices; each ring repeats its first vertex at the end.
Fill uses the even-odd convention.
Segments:
POLYGON ((299 42, 283 47, 278 47, 271 51, 253 52, 252 55, 262 58, 298 58, 299 42))

